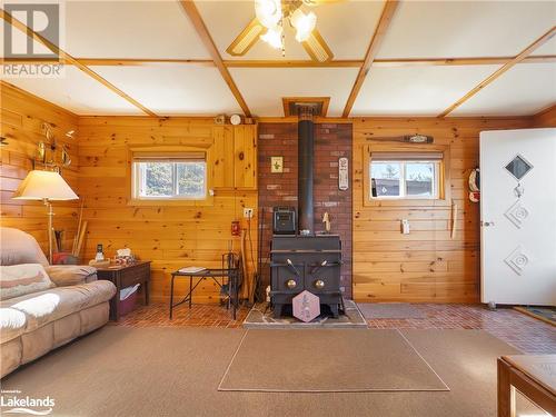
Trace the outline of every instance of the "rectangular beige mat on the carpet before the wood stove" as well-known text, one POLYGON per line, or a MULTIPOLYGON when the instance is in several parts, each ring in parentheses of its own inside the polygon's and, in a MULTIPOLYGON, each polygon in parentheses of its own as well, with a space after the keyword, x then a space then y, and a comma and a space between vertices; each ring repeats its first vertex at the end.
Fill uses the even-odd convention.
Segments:
POLYGON ((359 329, 249 330, 218 389, 449 390, 398 330, 359 329))

